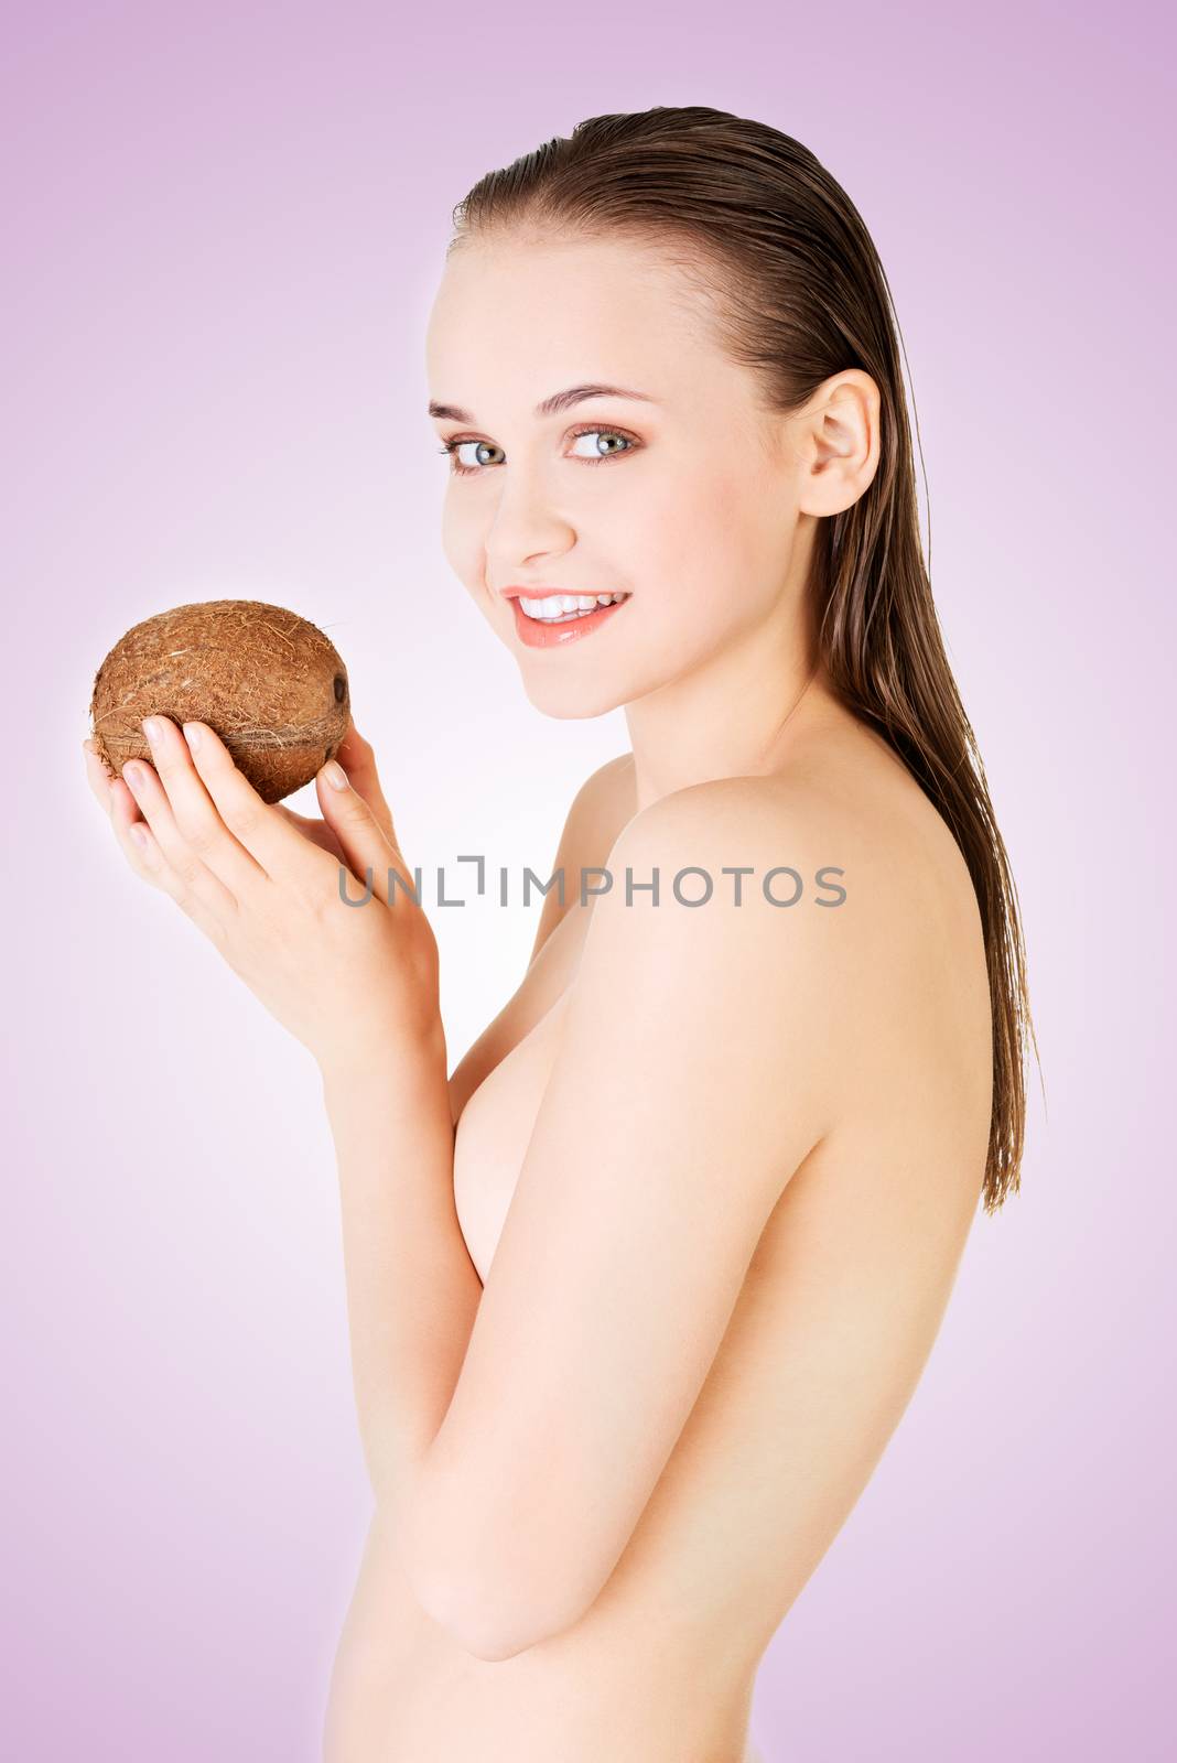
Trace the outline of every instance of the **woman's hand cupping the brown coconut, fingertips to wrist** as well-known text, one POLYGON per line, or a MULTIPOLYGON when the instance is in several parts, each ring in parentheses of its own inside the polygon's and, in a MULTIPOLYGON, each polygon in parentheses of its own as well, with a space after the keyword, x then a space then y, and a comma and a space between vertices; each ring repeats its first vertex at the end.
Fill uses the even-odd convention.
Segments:
POLYGON ((315 776, 321 822, 263 802, 206 723, 181 735, 155 716, 143 730, 153 765, 132 762, 123 777, 83 742, 136 874, 176 901, 324 1072, 437 1045, 437 940, 405 892, 412 876, 356 728, 338 749, 351 785, 333 788, 326 765, 315 776), (391 897, 389 869, 403 883, 391 897))

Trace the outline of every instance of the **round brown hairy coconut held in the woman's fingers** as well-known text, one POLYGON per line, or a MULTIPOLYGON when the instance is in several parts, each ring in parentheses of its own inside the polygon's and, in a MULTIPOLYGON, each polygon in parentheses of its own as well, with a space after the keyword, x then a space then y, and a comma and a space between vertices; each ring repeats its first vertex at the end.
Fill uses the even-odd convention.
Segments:
POLYGON ((204 599, 132 626, 93 679, 99 758, 122 777, 152 760, 144 716, 208 723, 264 802, 335 758, 347 733, 347 668, 322 631, 261 599, 204 599))

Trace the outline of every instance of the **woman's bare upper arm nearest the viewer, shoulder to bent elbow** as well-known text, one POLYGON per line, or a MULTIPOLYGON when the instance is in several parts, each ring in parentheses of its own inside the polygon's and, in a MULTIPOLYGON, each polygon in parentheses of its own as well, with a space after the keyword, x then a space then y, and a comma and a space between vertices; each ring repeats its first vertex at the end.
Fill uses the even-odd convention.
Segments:
MULTIPOLYGON (((826 1127, 840 915, 763 899, 779 834, 715 783, 645 809, 610 852, 613 887, 407 1520, 423 1603, 483 1657, 567 1627, 608 1580, 765 1222, 826 1127), (740 908, 724 864, 756 867, 740 908), (657 906, 627 904, 626 866, 634 882, 659 869, 657 906), (712 874, 708 904, 675 901, 685 866, 712 874)), ((685 897, 700 890, 684 880, 685 897)))

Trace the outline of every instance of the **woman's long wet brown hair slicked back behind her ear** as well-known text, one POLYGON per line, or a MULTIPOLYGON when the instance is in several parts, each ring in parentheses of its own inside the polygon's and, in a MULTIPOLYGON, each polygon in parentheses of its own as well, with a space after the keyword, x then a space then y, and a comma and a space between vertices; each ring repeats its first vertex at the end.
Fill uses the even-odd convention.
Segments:
POLYGON ((851 508, 818 524, 814 628, 833 688, 899 753, 973 876, 994 1024, 983 1202, 997 1211, 1020 1186, 1025 1141, 1022 1067, 1025 1033, 1034 1030, 1022 924, 932 601, 899 321, 858 210, 788 134, 707 106, 659 106, 590 116, 571 136, 486 173, 456 205, 453 222, 449 250, 520 229, 663 245, 712 298, 724 344, 761 376, 774 411, 800 409, 823 381, 851 367, 879 388, 879 467, 851 508))

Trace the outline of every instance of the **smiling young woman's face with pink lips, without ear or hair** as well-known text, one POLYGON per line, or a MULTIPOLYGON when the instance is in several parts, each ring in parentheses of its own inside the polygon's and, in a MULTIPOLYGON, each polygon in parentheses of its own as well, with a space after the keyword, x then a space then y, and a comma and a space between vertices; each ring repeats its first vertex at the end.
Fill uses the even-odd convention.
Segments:
POLYGON ((426 365, 432 402, 462 413, 435 416, 439 439, 455 443, 444 552, 539 710, 601 716, 781 619, 798 564, 786 423, 655 250, 462 247, 437 293, 426 365), (643 398, 596 395, 537 414, 587 384, 643 398), (504 598, 511 587, 629 598, 583 633, 543 626, 559 640, 536 647, 504 598))

